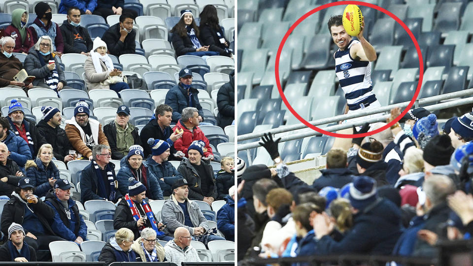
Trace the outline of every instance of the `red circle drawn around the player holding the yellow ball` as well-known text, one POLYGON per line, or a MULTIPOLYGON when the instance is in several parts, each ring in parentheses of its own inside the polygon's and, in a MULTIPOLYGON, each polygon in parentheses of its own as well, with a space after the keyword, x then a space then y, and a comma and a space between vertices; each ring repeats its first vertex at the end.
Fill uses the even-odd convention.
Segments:
MULTIPOLYGON (((328 34, 328 33, 327 33, 328 34)), ((274 74, 276 76, 276 86, 277 86, 277 89, 279 90, 279 94, 281 95, 281 98, 282 100, 284 101, 284 103, 286 104, 287 108, 289 109, 289 111, 291 111, 291 113, 297 118, 299 119, 299 121, 301 121, 304 125, 306 125, 307 127, 319 132, 319 133, 322 133, 322 134, 326 134, 326 135, 329 135, 329 136, 334 136, 334 137, 342 137, 342 138, 355 138, 355 137, 365 137, 365 136, 369 136, 369 135, 372 135, 372 134, 375 134, 375 133, 379 133, 379 132, 382 132, 384 130, 387 130, 389 129, 392 125, 394 125, 395 123, 397 123, 410 109, 410 107, 412 107, 412 105, 414 105, 415 103, 415 100, 417 99, 417 96, 419 95, 419 92, 420 92, 420 88, 422 87, 422 79, 424 77, 424 64, 423 64, 423 59, 422 59, 422 53, 420 51, 420 47, 419 47, 419 44, 417 43, 417 40, 415 39, 414 35, 412 34, 412 32, 409 30, 409 28, 407 28, 407 26, 405 25, 405 23, 399 19, 398 17, 396 17, 393 13, 389 12, 388 10, 382 8, 382 7, 379 7, 377 5, 374 5, 374 4, 371 4, 371 3, 366 3, 366 2, 361 2, 361 1, 339 1, 339 2, 333 2, 333 3, 328 3, 328 4, 324 4, 324 5, 321 5, 317 8, 314 8, 312 10, 310 10, 309 12, 305 13, 302 17, 300 17, 292 26, 291 28, 289 28, 289 30, 287 31, 287 33, 284 35, 284 37, 282 38, 281 40, 281 43, 279 44, 279 48, 277 49, 277 54, 276 54, 276 63, 275 63, 275 68, 274 68, 274 74), (287 38, 289 37, 289 35, 292 33, 292 31, 294 31, 294 29, 304 20, 306 19, 308 16, 312 15, 313 13, 317 12, 317 11, 320 11, 322 9, 325 9, 327 7, 331 7, 331 6, 335 6, 335 5, 345 5, 345 4, 356 4, 356 5, 363 5, 363 6, 368 6, 368 7, 371 7, 371 8, 374 8, 376 10, 379 10, 381 12, 383 12, 384 14, 390 16, 391 18, 393 18, 397 23, 399 23, 403 28, 404 30, 407 32, 407 34, 410 36, 410 38, 412 39, 412 42, 414 43, 414 46, 417 50, 417 55, 419 56, 419 81, 417 83, 417 88, 415 90, 415 93, 414 93, 414 97, 412 98, 412 100, 410 100, 409 104, 407 105, 407 107, 405 108, 405 110, 398 116, 396 117, 396 119, 394 119, 393 121, 391 121, 389 124, 387 124, 386 126, 384 127, 381 127, 377 130, 374 130, 372 132, 367 132, 367 133, 359 133, 359 134, 338 134, 338 133, 333 133, 333 132, 328 132, 328 131, 325 131, 325 130, 322 130, 320 128, 317 128, 316 126, 313 126, 311 124, 309 124, 309 122, 307 122, 304 118, 302 118, 295 110, 294 108, 292 108, 292 106, 289 104, 289 102, 287 101, 286 97, 284 96, 284 93, 282 91, 282 87, 281 87, 281 82, 279 81, 279 58, 281 56, 281 51, 282 51, 282 48, 284 46, 284 43, 286 42, 287 38)))

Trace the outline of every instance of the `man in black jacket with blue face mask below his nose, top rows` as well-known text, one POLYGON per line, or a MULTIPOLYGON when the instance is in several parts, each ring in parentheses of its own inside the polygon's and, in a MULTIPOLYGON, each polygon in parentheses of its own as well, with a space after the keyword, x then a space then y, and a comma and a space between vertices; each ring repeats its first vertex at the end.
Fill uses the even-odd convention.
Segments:
MULTIPOLYGON (((91 0, 91 2, 94 0, 91 0)), ((80 26, 79 8, 71 6, 68 9, 68 19, 59 27, 64 40, 64 53, 89 55, 93 43, 86 28, 80 26)))

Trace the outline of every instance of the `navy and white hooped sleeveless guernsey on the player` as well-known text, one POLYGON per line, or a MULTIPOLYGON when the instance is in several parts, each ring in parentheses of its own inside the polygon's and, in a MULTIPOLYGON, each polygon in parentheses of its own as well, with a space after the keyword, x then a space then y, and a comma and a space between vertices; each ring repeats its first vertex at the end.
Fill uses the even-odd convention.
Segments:
POLYGON ((334 54, 335 72, 350 110, 358 110, 369 106, 376 100, 372 90, 371 63, 353 60, 350 48, 360 41, 352 39, 347 49, 338 49, 334 54))

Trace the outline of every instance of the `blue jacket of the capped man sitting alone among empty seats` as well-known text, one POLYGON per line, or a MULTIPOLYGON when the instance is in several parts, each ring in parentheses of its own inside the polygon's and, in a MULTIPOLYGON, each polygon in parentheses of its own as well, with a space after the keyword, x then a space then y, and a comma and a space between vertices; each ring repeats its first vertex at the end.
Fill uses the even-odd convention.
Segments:
MULTIPOLYGON (((203 117, 202 106, 199 103, 199 91, 191 87, 193 96, 194 106, 199 111, 199 115, 203 117)), ((189 106, 189 97, 187 97, 187 91, 182 88, 181 84, 172 87, 168 94, 166 94, 166 100, 164 102, 172 108, 172 122, 177 123, 181 119, 182 110, 189 106)))

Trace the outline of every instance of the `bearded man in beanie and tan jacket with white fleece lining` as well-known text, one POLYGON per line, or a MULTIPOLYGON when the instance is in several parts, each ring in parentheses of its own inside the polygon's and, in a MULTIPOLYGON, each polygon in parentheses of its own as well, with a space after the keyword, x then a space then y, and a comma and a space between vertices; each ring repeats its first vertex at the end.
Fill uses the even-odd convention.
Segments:
POLYGON ((66 134, 72 148, 80 158, 92 160, 92 148, 97 144, 109 146, 107 137, 102 132, 99 121, 89 118, 89 107, 85 104, 77 105, 74 117, 66 120, 66 134))

